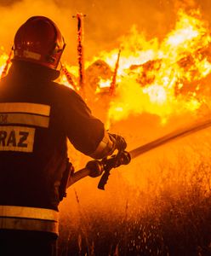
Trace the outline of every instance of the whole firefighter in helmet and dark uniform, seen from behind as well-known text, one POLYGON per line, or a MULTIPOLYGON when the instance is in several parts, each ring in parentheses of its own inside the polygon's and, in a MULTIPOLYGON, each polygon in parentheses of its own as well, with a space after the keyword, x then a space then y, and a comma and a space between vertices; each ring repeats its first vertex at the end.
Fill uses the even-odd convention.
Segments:
POLYGON ((0 82, 0 255, 55 255, 66 139, 94 159, 126 146, 77 92, 54 82, 65 47, 43 16, 26 20, 14 37, 12 65, 0 82))

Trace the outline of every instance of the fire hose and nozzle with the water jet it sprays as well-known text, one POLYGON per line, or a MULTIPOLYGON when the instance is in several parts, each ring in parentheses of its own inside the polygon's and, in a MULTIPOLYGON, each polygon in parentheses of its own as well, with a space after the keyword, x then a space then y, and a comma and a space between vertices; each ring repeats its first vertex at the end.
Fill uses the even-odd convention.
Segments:
POLYGON ((208 119, 200 123, 170 132, 163 137, 157 138, 151 143, 146 143, 138 148, 134 148, 129 152, 123 150, 103 160, 91 160, 82 170, 71 173, 69 181, 67 183, 67 188, 70 187, 73 183, 76 183, 78 180, 82 179, 83 177, 90 176, 92 172, 95 172, 96 174, 99 173, 99 175, 96 176, 100 176, 100 174, 102 174, 102 176, 100 177, 100 182, 98 184, 98 189, 105 189, 105 185, 107 183, 112 168, 117 168, 121 165, 128 165, 131 159, 140 156, 140 154, 144 154, 151 149, 162 146, 163 144, 173 141, 176 138, 188 136, 192 133, 201 131, 210 126, 211 119, 208 119))

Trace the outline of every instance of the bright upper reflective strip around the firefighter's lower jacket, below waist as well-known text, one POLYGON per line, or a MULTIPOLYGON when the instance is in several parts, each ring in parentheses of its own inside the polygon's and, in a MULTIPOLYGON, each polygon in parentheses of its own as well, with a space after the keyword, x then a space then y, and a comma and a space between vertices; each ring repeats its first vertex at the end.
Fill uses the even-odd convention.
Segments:
POLYGON ((0 217, 35 218, 58 222, 59 212, 35 207, 0 206, 0 217))

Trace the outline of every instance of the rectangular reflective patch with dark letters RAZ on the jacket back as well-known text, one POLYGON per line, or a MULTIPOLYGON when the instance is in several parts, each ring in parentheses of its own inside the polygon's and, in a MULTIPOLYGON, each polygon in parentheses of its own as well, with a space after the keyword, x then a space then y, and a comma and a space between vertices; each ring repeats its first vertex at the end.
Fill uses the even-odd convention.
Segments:
POLYGON ((32 152, 35 128, 0 125, 0 151, 32 152))

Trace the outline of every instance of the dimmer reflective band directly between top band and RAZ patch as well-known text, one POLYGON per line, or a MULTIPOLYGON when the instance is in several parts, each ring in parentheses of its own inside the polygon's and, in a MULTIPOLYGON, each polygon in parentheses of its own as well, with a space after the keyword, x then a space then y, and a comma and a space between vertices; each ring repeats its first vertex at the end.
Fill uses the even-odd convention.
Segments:
POLYGON ((0 113, 0 125, 35 125, 48 128, 49 117, 31 113, 0 113))

